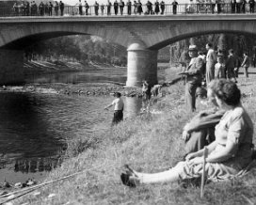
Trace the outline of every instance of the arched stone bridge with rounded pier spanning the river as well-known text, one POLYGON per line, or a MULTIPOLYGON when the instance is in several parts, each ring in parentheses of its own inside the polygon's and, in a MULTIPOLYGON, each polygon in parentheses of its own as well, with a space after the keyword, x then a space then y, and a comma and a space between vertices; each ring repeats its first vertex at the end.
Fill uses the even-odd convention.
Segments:
POLYGON ((157 83, 157 53, 170 43, 213 33, 256 34, 256 15, 64 16, 0 18, 0 83, 22 81, 24 47, 41 39, 93 35, 127 48, 127 82, 157 83))

